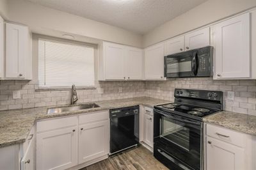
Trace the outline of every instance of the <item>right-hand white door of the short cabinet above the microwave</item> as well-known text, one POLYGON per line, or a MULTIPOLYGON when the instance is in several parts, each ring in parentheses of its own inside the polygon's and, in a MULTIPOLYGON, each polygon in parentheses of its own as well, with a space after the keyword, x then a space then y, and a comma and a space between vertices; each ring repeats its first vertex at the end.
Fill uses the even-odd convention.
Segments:
POLYGON ((186 50, 198 49, 210 45, 210 27, 185 35, 186 50))

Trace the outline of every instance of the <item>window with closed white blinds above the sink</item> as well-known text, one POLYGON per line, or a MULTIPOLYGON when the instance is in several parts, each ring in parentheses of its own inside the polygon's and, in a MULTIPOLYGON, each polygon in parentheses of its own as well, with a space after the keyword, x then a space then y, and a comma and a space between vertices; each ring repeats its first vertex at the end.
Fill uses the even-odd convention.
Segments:
POLYGON ((94 86, 93 47, 38 40, 40 87, 94 86))

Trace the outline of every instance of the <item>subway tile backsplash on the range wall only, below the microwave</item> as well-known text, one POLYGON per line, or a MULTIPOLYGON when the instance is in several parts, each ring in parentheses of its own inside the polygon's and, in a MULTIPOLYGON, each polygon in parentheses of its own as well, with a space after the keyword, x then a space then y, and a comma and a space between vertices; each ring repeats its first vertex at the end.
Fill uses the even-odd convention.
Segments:
POLYGON ((224 110, 254 114, 256 116, 255 80, 213 81, 211 77, 207 77, 168 79, 168 81, 147 81, 145 83, 145 96, 173 101, 175 88, 223 91, 224 110), (227 91, 234 91, 234 101, 227 100, 227 91))

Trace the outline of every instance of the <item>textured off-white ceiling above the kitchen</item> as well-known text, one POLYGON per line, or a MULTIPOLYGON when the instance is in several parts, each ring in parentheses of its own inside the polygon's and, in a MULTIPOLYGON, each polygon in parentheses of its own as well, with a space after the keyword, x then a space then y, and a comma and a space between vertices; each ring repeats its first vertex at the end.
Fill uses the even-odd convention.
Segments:
POLYGON ((145 34, 206 0, 27 0, 145 34))

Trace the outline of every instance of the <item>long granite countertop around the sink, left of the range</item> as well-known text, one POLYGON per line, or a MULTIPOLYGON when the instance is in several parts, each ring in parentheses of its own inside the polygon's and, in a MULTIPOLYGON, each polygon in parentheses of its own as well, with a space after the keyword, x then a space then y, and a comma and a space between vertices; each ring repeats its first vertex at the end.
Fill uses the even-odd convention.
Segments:
POLYGON ((79 111, 61 112, 50 115, 46 114, 47 108, 49 107, 0 111, 0 147, 24 143, 29 134, 29 130, 35 124, 35 121, 38 120, 59 116, 76 115, 85 112, 102 111, 119 107, 128 107, 132 105, 146 105, 153 107, 154 105, 170 103, 170 101, 149 97, 136 97, 117 100, 104 100, 95 103, 100 107, 83 109, 79 111))

